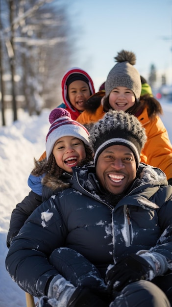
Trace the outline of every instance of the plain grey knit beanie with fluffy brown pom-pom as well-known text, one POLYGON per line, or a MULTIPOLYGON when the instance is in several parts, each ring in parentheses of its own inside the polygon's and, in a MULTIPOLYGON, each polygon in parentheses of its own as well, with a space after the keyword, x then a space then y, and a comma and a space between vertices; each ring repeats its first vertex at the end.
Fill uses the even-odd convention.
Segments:
POLYGON ((106 97, 118 86, 124 86, 133 91, 136 100, 139 101, 142 83, 140 74, 133 67, 136 64, 136 56, 131 51, 122 50, 114 57, 118 62, 109 72, 105 82, 106 97))

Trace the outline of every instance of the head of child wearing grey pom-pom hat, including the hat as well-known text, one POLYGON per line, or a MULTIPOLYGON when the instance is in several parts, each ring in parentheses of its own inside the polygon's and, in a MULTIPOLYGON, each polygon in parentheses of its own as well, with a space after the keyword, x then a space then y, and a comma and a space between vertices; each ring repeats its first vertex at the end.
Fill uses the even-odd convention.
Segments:
MULTIPOLYGON (((137 69, 136 56, 132 51, 122 50, 115 56, 117 64, 109 72, 105 82, 103 109, 123 110, 130 114, 140 112, 142 91, 141 77, 137 69)), ((136 115, 137 116, 137 115, 136 115)))

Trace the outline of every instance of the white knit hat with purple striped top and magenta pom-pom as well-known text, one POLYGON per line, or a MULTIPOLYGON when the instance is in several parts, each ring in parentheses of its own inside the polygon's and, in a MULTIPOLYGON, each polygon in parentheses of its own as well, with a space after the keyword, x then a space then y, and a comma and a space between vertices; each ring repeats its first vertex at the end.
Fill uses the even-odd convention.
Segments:
POLYGON ((46 155, 47 160, 52 153, 55 142, 63 136, 74 136, 89 145, 88 130, 71 119, 71 114, 63 108, 55 108, 49 114, 51 124, 46 137, 46 155))

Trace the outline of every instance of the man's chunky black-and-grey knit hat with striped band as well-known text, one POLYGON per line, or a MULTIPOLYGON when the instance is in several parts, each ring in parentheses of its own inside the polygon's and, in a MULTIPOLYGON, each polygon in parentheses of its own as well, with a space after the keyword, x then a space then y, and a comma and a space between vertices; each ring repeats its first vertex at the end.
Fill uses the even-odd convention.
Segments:
POLYGON ((90 145, 95 152, 95 166, 98 156, 104 149, 112 145, 123 145, 134 153, 138 168, 140 153, 146 140, 145 128, 137 117, 123 111, 109 110, 90 131, 90 145))

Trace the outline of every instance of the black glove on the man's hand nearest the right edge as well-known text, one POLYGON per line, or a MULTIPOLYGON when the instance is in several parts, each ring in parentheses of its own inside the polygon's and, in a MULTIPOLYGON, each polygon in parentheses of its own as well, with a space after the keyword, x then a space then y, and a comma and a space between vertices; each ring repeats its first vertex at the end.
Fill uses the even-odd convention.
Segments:
POLYGON ((111 291, 121 291, 128 283, 147 280, 151 270, 149 263, 140 256, 131 254, 122 261, 113 265, 106 272, 105 282, 107 289, 111 291))

